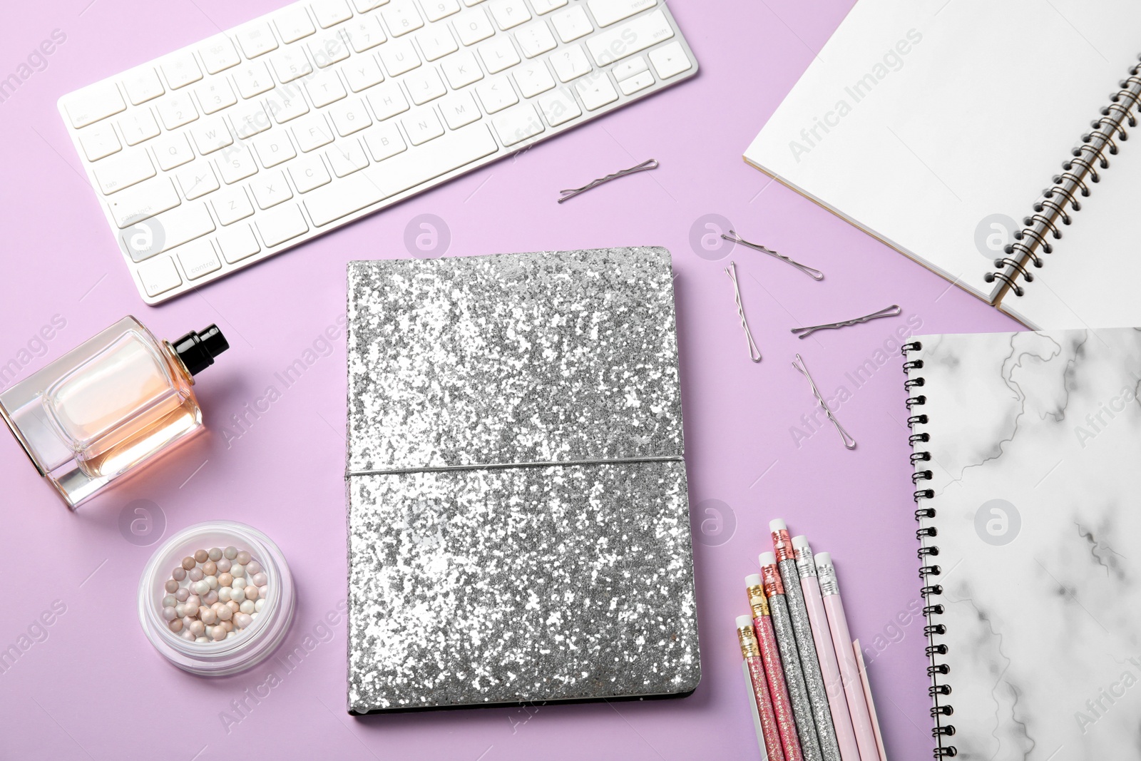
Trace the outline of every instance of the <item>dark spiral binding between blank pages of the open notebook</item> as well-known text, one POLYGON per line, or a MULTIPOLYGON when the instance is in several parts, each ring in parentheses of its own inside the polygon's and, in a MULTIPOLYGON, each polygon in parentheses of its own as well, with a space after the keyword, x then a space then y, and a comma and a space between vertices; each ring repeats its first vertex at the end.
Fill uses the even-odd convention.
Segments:
POLYGON ((1050 187, 1042 192, 1042 197, 1033 207, 1034 213, 1022 219, 1023 227, 1014 233, 1014 242, 1003 249, 1006 256, 995 259, 995 272, 982 276, 986 282, 1000 281, 1018 297, 1026 293, 1015 282, 1019 276, 1023 283, 1034 282, 1034 275, 1027 266, 1034 262, 1034 267, 1042 267, 1038 251, 1053 251, 1047 237, 1058 240, 1062 236, 1058 221, 1062 225, 1070 224, 1066 205, 1069 204, 1074 211, 1082 210, 1076 196, 1090 195, 1090 186, 1085 180, 1097 183, 1101 179, 1097 168, 1108 169, 1109 160, 1106 154, 1117 154, 1114 132, 1125 140, 1128 137, 1125 126, 1138 124, 1133 107, 1141 103, 1141 66, 1131 67, 1128 78, 1118 82, 1117 87, 1119 89, 1109 96, 1109 105, 1101 110, 1101 116, 1091 122, 1092 131, 1082 136, 1082 141, 1070 152, 1073 157, 1062 162, 1062 172, 1054 175, 1050 187))

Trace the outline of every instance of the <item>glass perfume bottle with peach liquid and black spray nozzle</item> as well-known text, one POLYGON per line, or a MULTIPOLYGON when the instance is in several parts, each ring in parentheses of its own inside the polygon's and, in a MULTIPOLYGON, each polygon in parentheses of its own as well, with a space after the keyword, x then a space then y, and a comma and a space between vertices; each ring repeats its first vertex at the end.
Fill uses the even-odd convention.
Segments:
POLYGON ((0 416, 74 509, 202 430, 194 375, 228 348, 217 325, 171 343, 123 317, 0 395, 0 416))

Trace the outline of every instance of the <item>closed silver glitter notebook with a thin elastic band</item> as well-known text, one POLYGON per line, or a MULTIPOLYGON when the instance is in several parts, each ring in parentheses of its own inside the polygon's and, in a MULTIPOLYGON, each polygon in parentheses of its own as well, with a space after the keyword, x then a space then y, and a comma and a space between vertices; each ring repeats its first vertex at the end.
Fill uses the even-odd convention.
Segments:
POLYGON ((670 253, 348 267, 348 710, 701 679, 670 253))

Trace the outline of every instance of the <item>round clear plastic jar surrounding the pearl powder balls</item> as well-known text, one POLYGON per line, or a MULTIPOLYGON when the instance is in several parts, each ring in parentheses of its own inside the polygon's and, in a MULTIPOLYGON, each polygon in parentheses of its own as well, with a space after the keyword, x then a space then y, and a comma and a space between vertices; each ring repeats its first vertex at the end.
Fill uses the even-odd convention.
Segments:
POLYGON ((203 677, 225 677, 250 669, 281 645, 293 621, 293 577, 273 540, 257 528, 230 520, 211 520, 184 528, 160 547, 139 580, 139 622, 151 645, 172 664, 203 677), (266 574, 261 610, 236 637, 219 641, 188 640, 171 631, 163 616, 164 585, 184 558, 197 550, 233 547, 246 551, 266 574))

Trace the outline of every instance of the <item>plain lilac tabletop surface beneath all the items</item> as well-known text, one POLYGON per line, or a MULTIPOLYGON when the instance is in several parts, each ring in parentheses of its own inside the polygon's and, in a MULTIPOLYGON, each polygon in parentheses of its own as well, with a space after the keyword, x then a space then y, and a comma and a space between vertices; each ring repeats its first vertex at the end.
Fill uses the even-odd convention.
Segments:
POLYGON ((702 65, 696 79, 201 292, 146 307, 56 99, 278 5, 65 0, 7 3, 2 13, 0 76, 54 29, 67 40, 44 71, 0 103, 7 220, 0 364, 18 357, 54 315, 66 327, 22 377, 128 313, 168 338, 217 322, 233 348, 200 378, 211 432, 76 515, 11 437, 0 436, 0 649, 52 601, 66 606, 48 638, 0 673, 0 756, 756 758, 734 617, 746 612, 742 578, 768 547, 768 520, 784 517, 817 551, 834 553, 853 635, 875 656, 869 671, 890 756, 926 758, 922 622, 906 616, 920 582, 899 359, 891 356, 858 389, 844 377, 906 321, 803 341, 788 329, 893 302, 922 319, 921 333, 1017 325, 743 163, 750 140, 851 2, 675 0, 671 8, 702 65), (650 156, 662 162, 657 171, 555 203, 563 187, 650 156), (819 267, 827 280, 815 283, 739 248, 721 261, 699 258, 689 232, 709 212, 819 267), (296 671, 276 666, 282 685, 227 732, 219 714, 270 666, 199 679, 165 664, 144 639, 136 585, 155 545, 137 547, 120 534, 120 512, 133 500, 157 505, 152 510, 164 516, 165 535, 233 518, 273 536, 299 585, 292 645, 345 598, 343 338, 240 438, 225 436, 224 426, 337 324, 345 262, 407 257, 405 226, 421 213, 446 221, 447 256, 612 245, 673 252, 690 499, 695 524, 712 520, 698 526, 695 543, 704 679, 693 697, 353 719, 343 711, 341 621, 296 671), (747 358, 721 272, 729 258, 764 355, 759 365, 747 358), (814 408, 807 382, 790 366, 795 351, 828 396, 841 383, 852 391, 839 418, 859 440, 856 451, 844 451, 831 428, 799 447, 793 442, 790 427, 814 408), (733 513, 720 533, 707 500, 733 513), (907 623, 899 625, 901 614, 907 623))

